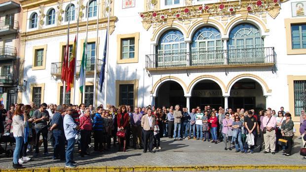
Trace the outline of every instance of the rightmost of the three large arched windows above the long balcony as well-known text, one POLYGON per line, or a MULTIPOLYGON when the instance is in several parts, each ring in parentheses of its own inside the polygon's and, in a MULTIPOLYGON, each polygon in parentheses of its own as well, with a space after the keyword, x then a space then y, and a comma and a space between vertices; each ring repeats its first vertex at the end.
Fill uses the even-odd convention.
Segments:
POLYGON ((229 33, 228 62, 258 63, 265 60, 264 39, 259 29, 249 23, 235 26, 229 33))

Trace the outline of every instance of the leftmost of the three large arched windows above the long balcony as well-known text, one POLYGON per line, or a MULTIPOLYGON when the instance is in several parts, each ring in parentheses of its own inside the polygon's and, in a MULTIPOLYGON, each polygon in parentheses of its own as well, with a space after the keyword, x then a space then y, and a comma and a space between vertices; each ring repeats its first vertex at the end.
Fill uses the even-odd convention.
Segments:
POLYGON ((161 35, 157 45, 158 66, 185 66, 186 43, 178 30, 169 30, 161 35))

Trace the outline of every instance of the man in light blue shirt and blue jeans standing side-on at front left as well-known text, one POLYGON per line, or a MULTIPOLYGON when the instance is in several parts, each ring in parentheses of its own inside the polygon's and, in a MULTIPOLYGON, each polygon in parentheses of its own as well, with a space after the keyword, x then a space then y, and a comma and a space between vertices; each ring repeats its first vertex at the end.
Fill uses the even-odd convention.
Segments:
POLYGON ((76 168, 74 165, 76 162, 74 161, 74 145, 76 138, 76 130, 79 129, 79 126, 76 125, 75 121, 72 118, 73 109, 72 107, 68 107, 66 109, 67 114, 64 117, 64 132, 65 137, 67 139, 67 149, 66 149, 66 164, 67 168, 76 168))

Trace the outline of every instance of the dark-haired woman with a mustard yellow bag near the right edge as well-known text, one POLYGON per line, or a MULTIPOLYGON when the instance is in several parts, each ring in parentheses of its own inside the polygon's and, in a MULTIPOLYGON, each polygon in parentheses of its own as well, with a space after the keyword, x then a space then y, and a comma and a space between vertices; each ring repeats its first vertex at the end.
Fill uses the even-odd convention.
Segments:
POLYGON ((291 114, 289 112, 285 113, 285 118, 286 120, 282 122, 281 125, 281 135, 287 140, 287 149, 283 153, 285 156, 290 156, 291 155, 291 149, 292 149, 292 138, 294 136, 293 133, 293 121, 291 120, 291 114))

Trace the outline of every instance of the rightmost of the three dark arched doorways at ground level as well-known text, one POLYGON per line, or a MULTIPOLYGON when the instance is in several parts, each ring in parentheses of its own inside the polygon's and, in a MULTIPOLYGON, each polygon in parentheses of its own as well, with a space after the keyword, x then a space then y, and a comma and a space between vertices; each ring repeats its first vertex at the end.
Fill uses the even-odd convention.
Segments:
POLYGON ((262 86, 253 79, 240 79, 230 88, 229 108, 265 109, 266 98, 262 86))

